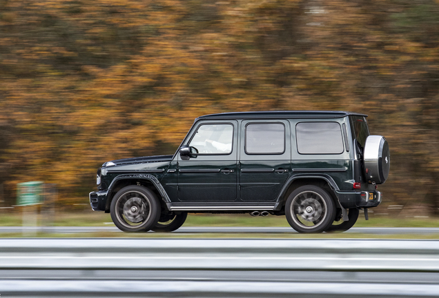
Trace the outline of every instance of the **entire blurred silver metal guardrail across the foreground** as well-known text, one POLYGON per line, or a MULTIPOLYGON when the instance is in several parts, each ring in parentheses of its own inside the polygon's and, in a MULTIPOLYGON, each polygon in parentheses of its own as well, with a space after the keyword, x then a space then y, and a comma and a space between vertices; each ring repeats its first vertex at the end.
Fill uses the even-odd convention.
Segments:
POLYGON ((439 241, 1 239, 2 297, 437 297, 439 241))

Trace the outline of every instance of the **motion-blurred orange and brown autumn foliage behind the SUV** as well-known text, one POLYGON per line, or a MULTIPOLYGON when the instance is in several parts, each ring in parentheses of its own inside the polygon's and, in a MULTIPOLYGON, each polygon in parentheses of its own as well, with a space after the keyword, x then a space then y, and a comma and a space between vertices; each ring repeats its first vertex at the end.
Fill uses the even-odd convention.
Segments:
POLYGON ((23 181, 88 203, 104 161, 253 110, 368 114, 392 159, 375 214, 438 216, 439 1, 0 0, 2 206, 23 181))

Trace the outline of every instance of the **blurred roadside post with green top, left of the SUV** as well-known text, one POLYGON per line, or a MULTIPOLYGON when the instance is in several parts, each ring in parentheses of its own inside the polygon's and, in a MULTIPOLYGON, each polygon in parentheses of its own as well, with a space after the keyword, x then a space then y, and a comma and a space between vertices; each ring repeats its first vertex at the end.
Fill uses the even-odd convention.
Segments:
POLYGON ((17 184, 17 206, 23 208, 23 236, 37 235, 37 205, 40 204, 42 200, 42 189, 42 181, 30 181, 17 184))

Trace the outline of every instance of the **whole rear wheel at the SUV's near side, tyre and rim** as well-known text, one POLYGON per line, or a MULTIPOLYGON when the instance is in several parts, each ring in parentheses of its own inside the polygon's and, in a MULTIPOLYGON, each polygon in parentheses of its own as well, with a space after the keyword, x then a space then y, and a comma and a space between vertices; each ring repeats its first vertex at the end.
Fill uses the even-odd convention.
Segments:
POLYGON ((300 186, 286 199, 285 217, 297 232, 324 232, 334 221, 335 204, 323 188, 300 186))

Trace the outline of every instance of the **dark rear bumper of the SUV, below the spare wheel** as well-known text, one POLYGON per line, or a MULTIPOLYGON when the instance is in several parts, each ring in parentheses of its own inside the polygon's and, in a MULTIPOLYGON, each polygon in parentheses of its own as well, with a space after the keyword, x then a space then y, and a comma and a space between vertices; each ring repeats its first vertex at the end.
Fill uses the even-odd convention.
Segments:
POLYGON ((336 191, 338 200, 343 208, 372 208, 380 205, 382 194, 373 191, 336 191))

